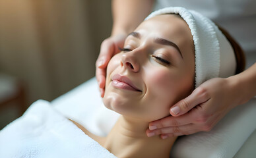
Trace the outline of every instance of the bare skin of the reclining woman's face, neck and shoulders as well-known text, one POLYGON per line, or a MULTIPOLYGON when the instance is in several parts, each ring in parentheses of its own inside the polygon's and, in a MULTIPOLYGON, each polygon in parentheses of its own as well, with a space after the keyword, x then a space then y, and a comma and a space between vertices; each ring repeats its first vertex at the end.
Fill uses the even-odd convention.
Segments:
POLYGON ((121 114, 115 126, 106 138, 101 138, 73 122, 117 157, 169 157, 176 137, 163 140, 144 132, 149 122, 170 115, 170 105, 193 90, 193 38, 187 23, 174 14, 150 18, 134 32, 125 39, 126 51, 117 53, 107 68, 103 101, 121 114), (115 74, 129 78, 140 91, 115 86, 115 74))

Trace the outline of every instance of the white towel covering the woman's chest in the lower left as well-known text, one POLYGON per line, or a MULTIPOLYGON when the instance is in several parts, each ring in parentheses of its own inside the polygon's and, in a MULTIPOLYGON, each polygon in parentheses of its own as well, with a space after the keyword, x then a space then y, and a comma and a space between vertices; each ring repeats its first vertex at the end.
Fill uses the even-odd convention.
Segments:
POLYGON ((48 101, 33 103, 0 131, 0 157, 115 157, 48 101))

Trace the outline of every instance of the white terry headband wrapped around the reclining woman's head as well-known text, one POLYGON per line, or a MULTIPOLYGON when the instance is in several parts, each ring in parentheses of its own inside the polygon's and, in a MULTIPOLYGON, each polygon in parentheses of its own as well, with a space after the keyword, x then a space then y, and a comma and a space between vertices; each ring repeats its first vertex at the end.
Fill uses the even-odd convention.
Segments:
POLYGON ((187 22, 195 45, 195 88, 210 78, 226 78, 236 72, 232 45, 207 17, 183 7, 154 11, 145 20, 160 14, 179 14, 187 22))

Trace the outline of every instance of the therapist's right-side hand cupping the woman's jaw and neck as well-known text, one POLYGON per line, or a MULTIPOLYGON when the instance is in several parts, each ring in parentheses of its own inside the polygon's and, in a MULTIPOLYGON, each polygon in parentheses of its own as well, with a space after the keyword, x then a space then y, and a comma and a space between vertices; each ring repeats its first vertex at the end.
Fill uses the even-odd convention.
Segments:
POLYGON ((172 116, 150 122, 147 136, 161 138, 210 131, 228 111, 240 105, 238 82, 229 78, 213 78, 196 88, 191 95, 170 109, 172 116))

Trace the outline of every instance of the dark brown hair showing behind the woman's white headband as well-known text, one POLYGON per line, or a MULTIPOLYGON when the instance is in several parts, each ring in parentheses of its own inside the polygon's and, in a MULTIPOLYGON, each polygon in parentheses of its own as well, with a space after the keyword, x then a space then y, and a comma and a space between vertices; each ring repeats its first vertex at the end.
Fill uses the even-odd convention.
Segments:
POLYGON ((245 55, 243 49, 241 49, 238 42, 234 38, 232 38, 232 36, 230 36, 230 34, 224 28, 218 26, 218 29, 220 29, 222 34, 226 36, 226 38, 228 39, 228 41, 230 42, 234 49, 234 53, 236 56, 236 74, 239 74, 245 69, 245 55))

